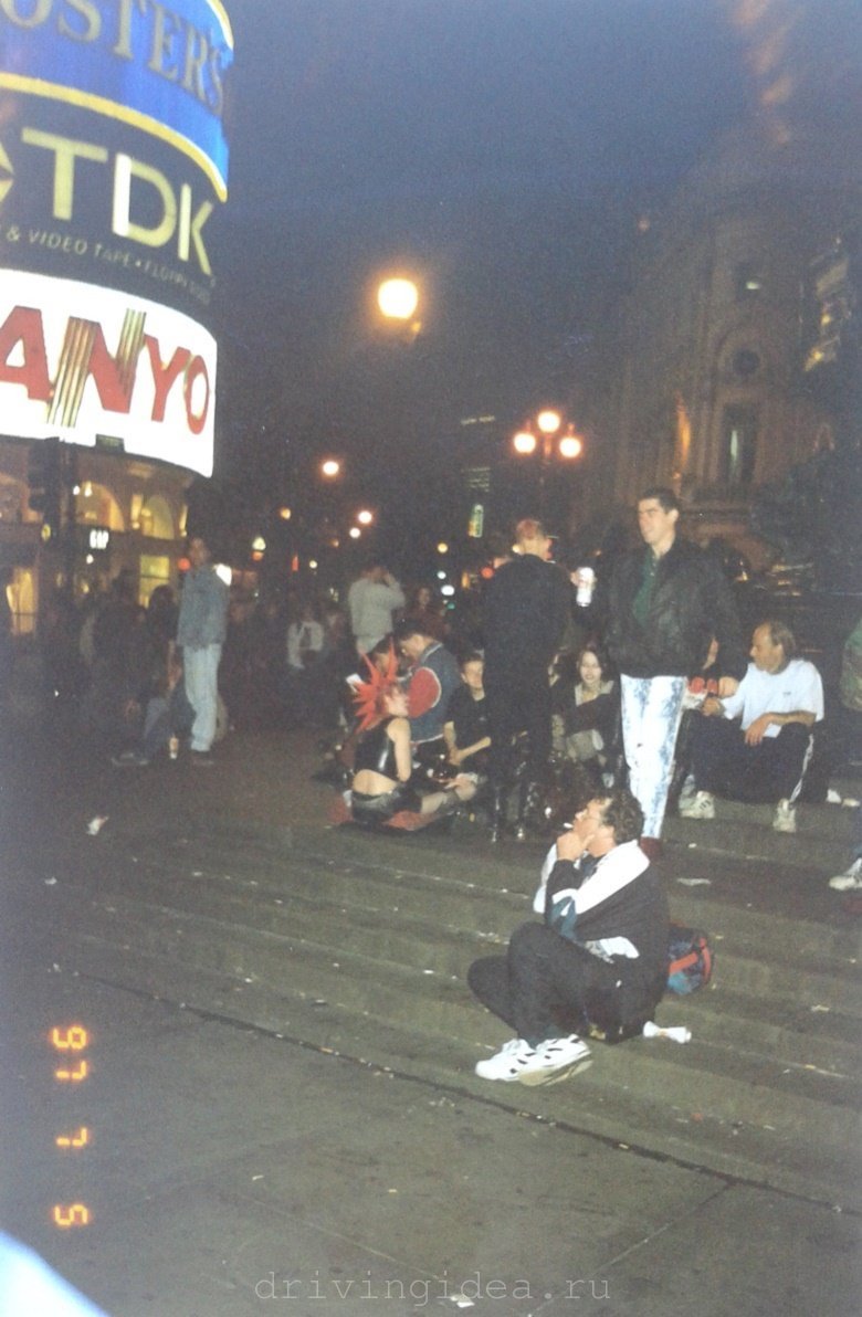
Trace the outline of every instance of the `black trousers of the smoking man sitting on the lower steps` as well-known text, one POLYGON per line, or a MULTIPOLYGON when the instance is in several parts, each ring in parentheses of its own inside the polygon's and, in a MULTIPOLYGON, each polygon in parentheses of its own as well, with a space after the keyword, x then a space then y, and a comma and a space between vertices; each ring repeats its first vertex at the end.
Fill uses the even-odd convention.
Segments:
POLYGON ((494 1015, 531 1044, 584 1033, 589 1021, 618 1027, 619 969, 544 923, 515 928, 505 956, 474 960, 467 981, 494 1015))

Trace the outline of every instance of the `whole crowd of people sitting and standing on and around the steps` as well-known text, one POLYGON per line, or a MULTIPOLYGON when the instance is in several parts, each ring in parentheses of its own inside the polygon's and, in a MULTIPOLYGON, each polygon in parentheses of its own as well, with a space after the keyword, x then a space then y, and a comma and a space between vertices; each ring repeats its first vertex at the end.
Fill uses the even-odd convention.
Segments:
MULTIPOLYGON (((117 768, 188 753, 210 765, 225 706, 239 726, 312 727, 331 747, 345 817, 380 830, 469 809, 497 842, 552 842, 540 922, 469 972, 515 1036, 480 1062, 488 1080, 550 1083, 651 1021, 667 971, 668 918, 655 861, 666 813, 717 802, 796 809, 824 716, 815 664, 776 618, 743 636, 716 557, 677 533, 668 489, 638 500, 641 544, 610 570, 568 573, 525 518, 478 607, 443 610, 369 562, 344 606, 231 601, 200 536, 179 598, 146 608, 120 574, 72 627, 46 628, 46 668, 74 682, 80 719, 117 768), (186 751, 187 747, 187 751, 186 751), (555 839, 554 839, 555 838, 555 839)), ((858 738, 859 626, 848 641, 842 720, 858 738)), ((855 753, 858 755, 858 747, 855 753)), ((857 834, 859 828, 857 811, 857 834)), ((862 848, 841 892, 862 889, 862 848)))

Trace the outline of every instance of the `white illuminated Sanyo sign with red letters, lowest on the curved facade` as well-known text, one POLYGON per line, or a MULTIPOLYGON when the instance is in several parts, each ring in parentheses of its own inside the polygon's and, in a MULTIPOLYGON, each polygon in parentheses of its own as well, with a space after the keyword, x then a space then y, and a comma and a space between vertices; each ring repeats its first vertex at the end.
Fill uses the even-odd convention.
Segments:
POLYGON ((190 316, 91 283, 0 270, 0 416, 22 439, 212 473, 216 345, 190 316))

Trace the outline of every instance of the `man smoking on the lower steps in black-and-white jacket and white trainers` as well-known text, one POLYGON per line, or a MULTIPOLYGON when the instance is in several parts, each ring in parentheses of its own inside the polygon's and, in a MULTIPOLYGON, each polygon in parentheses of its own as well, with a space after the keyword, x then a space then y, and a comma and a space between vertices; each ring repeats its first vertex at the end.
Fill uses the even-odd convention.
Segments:
POLYGON ((468 982, 515 1030, 481 1060, 481 1079, 548 1084, 589 1064, 580 1036, 641 1033, 667 984, 668 913, 638 846, 643 814, 627 790, 580 810, 544 863, 534 910, 505 956, 476 960, 468 982))

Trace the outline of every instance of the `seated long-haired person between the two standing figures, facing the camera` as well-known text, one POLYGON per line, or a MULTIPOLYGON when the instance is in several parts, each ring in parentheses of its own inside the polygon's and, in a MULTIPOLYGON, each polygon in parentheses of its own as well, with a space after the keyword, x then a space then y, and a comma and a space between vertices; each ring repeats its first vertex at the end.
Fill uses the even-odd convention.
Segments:
POLYGON ((597 645, 581 649, 577 681, 572 684, 571 678, 561 677, 551 687, 551 698, 555 751, 576 764, 588 765, 598 785, 619 719, 619 694, 597 645))

